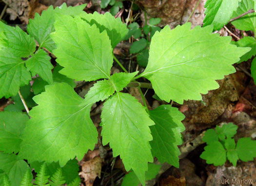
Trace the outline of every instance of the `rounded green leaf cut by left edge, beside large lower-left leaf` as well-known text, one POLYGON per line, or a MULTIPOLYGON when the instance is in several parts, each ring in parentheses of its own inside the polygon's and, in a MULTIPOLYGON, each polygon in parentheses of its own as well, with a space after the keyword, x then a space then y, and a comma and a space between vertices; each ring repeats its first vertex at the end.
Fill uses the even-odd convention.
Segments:
POLYGON ((19 152, 20 136, 28 119, 28 116, 21 112, 0 112, 0 151, 19 152))

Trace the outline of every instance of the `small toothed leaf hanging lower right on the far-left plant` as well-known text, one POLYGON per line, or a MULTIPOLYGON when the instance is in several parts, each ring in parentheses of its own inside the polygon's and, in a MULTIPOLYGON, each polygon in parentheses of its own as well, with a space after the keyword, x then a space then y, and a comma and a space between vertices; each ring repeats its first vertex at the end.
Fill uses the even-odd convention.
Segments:
POLYGON ((49 84, 53 84, 52 69, 53 65, 50 62, 51 57, 48 56, 43 49, 36 52, 26 61, 27 70, 32 72, 32 76, 39 74, 39 76, 47 81, 49 84))

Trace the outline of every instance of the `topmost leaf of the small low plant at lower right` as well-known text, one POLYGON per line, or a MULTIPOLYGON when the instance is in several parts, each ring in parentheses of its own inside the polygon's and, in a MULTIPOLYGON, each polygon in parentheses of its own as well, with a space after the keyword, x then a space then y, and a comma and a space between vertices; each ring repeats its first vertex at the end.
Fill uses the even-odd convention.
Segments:
POLYGON ((220 140, 225 140, 225 136, 233 137, 236 134, 237 125, 234 125, 233 123, 224 124, 222 127, 216 126, 216 132, 218 134, 218 138, 220 140))

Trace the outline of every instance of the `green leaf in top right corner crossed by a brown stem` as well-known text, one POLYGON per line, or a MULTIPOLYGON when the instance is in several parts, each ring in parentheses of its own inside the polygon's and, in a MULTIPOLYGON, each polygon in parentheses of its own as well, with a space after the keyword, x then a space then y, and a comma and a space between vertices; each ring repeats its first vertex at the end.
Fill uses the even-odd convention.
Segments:
MULTIPOLYGON (((241 2, 239 3, 239 7, 237 8, 236 12, 234 12, 232 18, 236 18, 237 16, 240 16, 241 14, 251 10, 252 8, 254 8, 253 0, 241 0, 241 2)), ((251 30, 256 33, 256 13, 247 14, 240 19, 232 21, 232 24, 239 30, 251 30)))

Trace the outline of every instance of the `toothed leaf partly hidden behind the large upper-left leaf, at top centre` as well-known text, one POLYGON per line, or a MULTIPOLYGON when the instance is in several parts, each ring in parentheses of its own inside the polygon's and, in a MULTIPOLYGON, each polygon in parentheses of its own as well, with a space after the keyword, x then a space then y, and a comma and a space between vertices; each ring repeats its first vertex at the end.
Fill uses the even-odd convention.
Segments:
MULTIPOLYGON (((107 31, 113 49, 128 32, 126 25, 122 23, 121 19, 115 19, 115 17, 113 17, 108 12, 106 12, 104 15, 98 14, 98 12, 94 12, 93 14, 87 14, 86 12, 82 12, 80 14, 80 17, 81 19, 86 20, 86 22, 88 22, 90 25, 96 24, 100 33, 107 31)), ((107 46, 105 46, 104 49, 106 48, 107 46)))

